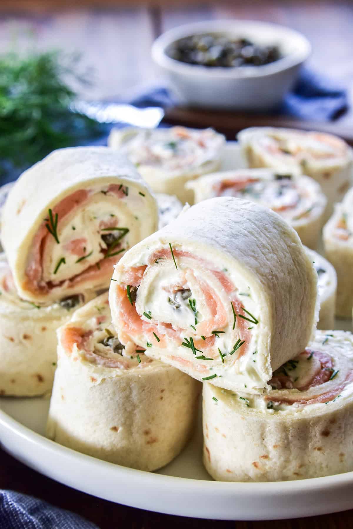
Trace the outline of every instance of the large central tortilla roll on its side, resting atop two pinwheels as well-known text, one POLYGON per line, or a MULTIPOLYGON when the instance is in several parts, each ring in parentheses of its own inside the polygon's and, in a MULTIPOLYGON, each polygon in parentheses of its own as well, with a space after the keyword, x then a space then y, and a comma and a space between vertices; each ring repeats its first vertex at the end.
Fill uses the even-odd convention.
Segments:
POLYGON ((198 380, 258 392, 309 341, 316 281, 282 217, 211 198, 125 254, 110 306, 122 343, 198 380))

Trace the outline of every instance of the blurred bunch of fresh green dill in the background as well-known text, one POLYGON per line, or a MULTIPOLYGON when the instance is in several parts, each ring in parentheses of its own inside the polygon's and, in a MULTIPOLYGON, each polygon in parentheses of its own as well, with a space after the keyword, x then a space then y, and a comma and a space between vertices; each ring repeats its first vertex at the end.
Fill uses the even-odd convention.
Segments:
POLYGON ((101 134, 99 123, 70 109, 72 85, 89 83, 79 61, 60 51, 0 56, 0 175, 101 134))

